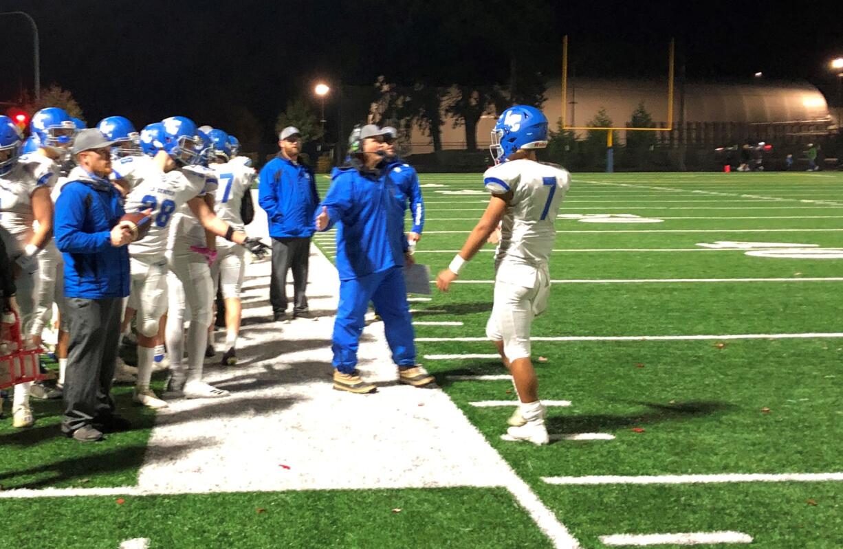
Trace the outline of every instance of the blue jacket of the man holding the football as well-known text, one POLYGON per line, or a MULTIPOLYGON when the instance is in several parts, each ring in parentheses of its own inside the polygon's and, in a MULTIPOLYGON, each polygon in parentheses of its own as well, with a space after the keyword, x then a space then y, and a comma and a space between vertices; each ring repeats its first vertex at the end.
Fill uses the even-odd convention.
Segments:
POLYGON ((86 299, 129 295, 129 249, 111 245, 123 211, 108 179, 73 168, 56 200, 56 248, 64 255, 64 295, 86 299))

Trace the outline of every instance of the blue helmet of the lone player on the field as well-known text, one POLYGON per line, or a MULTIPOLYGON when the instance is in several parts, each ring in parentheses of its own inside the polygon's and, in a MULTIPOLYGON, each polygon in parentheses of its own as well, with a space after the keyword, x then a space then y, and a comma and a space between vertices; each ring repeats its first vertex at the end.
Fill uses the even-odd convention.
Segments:
POLYGON ((491 131, 491 157, 495 163, 507 161, 518 149, 547 147, 547 118, 539 109, 513 105, 502 112, 491 131))

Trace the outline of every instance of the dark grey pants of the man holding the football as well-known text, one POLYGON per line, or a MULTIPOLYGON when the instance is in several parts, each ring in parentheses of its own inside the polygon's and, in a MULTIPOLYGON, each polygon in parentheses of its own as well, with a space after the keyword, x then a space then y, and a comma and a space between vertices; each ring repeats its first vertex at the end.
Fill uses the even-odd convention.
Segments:
POLYGON ((114 412, 111 379, 122 308, 120 298, 67 298, 70 344, 64 381, 65 433, 97 423, 114 412))

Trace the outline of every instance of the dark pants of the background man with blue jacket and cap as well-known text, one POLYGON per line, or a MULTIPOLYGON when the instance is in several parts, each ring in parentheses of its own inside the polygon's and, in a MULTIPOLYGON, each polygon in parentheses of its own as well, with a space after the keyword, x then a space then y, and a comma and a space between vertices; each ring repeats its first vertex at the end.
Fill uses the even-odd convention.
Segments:
POLYGON ((304 295, 308 285, 310 238, 272 237, 272 280, 269 301, 272 312, 280 315, 287 311, 287 270, 293 269, 293 312, 308 310, 304 295))

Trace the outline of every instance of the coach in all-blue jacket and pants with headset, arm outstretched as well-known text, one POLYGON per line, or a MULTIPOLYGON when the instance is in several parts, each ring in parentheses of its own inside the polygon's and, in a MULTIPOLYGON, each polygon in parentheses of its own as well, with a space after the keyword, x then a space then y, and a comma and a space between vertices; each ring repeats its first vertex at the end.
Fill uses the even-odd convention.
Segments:
POLYGON ((412 317, 404 282, 407 253, 404 206, 399 190, 386 174, 384 131, 364 125, 352 133, 349 163, 332 173, 316 229, 337 225, 336 268, 340 272, 340 302, 334 322, 334 388, 367 393, 376 387, 360 378, 357 346, 369 301, 384 319, 392 360, 399 381, 426 386, 433 376, 416 365, 412 317))

